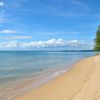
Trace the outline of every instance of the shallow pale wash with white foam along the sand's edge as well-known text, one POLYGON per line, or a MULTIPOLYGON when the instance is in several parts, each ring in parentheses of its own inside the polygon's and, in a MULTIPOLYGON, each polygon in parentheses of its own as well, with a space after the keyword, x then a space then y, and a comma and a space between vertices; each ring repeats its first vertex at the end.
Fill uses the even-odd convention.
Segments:
MULTIPOLYGON (((1 100, 13 100, 13 98, 15 98, 15 97, 29 93, 32 90, 40 88, 41 86, 48 84, 50 81, 55 80, 57 77, 60 77, 62 74, 64 74, 65 72, 67 72, 70 69, 71 69, 71 67, 68 67, 68 68, 58 67, 58 68, 54 68, 54 69, 49 69, 49 71, 46 70, 42 74, 40 74, 36 77, 30 78, 30 80, 14 87, 12 89, 11 93, 7 92, 7 94, 4 94, 4 98, 1 96, 1 100), (9 95, 9 96, 6 97, 6 95, 9 95)), ((27 80, 27 79, 25 79, 25 80, 27 80)))

